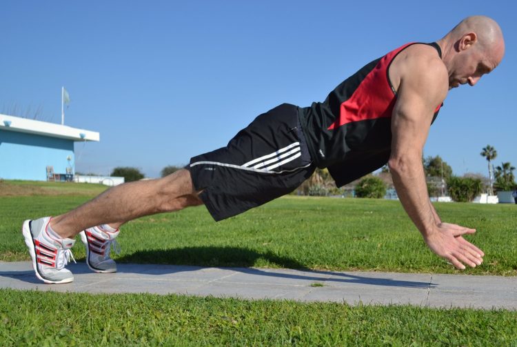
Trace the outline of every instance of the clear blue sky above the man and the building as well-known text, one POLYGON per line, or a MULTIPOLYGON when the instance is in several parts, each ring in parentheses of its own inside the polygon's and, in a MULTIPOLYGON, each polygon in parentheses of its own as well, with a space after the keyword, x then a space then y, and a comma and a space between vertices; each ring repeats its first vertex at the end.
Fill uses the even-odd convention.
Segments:
POLYGON ((472 14, 503 28, 505 59, 475 87, 449 92, 425 155, 462 175, 517 166, 514 1, 0 2, 0 112, 41 108, 101 133, 76 144, 81 172, 167 165, 225 146, 279 103, 309 106, 365 63, 409 41, 436 41, 472 14))

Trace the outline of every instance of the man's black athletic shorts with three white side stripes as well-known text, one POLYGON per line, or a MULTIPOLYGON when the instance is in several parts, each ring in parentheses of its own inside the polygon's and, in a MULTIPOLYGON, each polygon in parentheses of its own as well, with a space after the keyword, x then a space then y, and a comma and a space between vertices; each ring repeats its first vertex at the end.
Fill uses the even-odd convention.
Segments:
POLYGON ((298 107, 287 103, 256 117, 226 147, 192 157, 187 166, 216 221, 292 192, 315 168, 298 107))

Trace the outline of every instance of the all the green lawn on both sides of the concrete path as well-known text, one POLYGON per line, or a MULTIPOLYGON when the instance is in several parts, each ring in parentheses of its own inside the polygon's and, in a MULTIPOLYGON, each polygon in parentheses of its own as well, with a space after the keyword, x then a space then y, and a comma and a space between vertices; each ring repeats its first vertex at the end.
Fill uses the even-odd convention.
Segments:
MULTIPOLYGON (((2 195, 0 184, 3 261, 29 259, 20 233, 24 219, 57 215, 105 189, 34 184, 43 192, 29 192, 30 184, 8 184, 11 195, 2 195)), ((116 259, 517 275, 517 206, 436 208, 443 220, 478 229, 467 238, 485 250, 482 266, 458 271, 433 255, 397 201, 302 197, 219 223, 203 207, 132 221, 122 228, 116 259)), ((79 239, 73 252, 84 257, 79 239)), ((10 289, 0 289, 0 297, 0 346, 517 346, 517 313, 508 310, 10 289)))

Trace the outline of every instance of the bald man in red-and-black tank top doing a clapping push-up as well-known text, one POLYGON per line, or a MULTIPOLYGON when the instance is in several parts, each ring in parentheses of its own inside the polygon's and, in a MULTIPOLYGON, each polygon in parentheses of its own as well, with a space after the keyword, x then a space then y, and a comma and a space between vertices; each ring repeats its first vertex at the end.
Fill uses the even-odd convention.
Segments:
POLYGON ((476 230, 444 223, 430 203, 421 158, 448 90, 474 86, 504 51, 494 20, 469 17, 436 43, 410 43, 372 61, 323 103, 283 104, 260 115, 227 147, 193 157, 168 177, 123 184, 64 215, 25 221, 36 275, 72 281, 64 266, 78 233, 88 266, 114 272, 110 245, 126 221, 201 204, 219 221, 294 190, 316 167, 329 168, 342 186, 385 163, 429 248, 456 268, 480 265, 483 252, 462 237, 476 230))

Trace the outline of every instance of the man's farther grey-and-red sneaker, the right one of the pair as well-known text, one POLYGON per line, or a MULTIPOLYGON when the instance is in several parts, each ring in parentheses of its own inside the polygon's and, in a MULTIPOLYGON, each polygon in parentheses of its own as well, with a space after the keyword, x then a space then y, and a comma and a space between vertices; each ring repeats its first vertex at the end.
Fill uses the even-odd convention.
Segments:
POLYGON ((115 237, 120 230, 108 231, 103 226, 94 226, 81 231, 81 241, 86 247, 86 264, 95 272, 116 272, 116 263, 110 257, 113 248, 116 254, 120 253, 120 246, 115 237))

